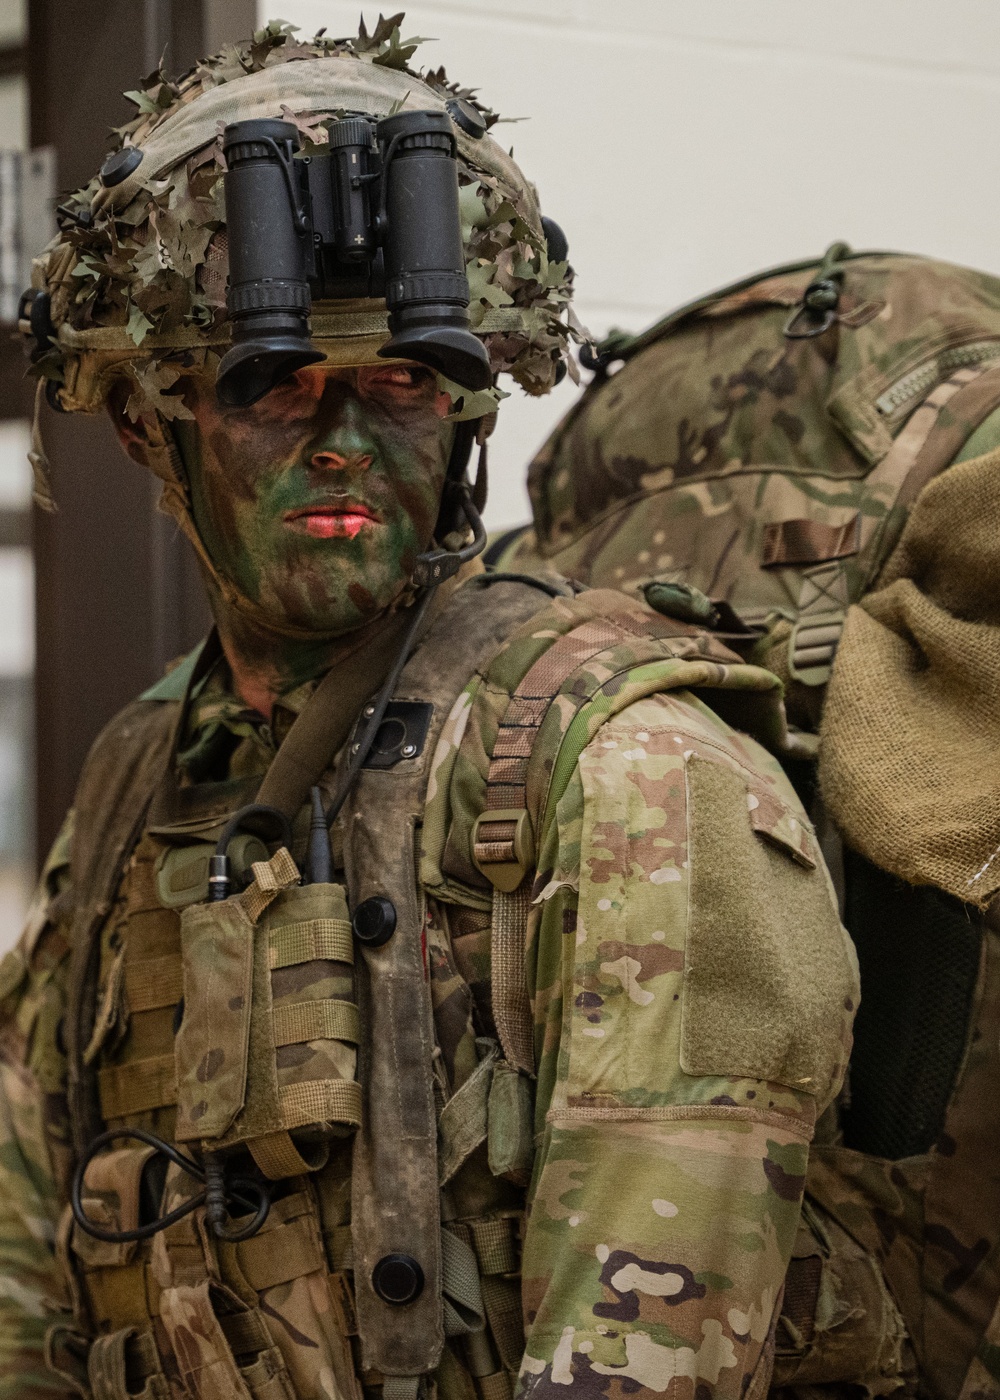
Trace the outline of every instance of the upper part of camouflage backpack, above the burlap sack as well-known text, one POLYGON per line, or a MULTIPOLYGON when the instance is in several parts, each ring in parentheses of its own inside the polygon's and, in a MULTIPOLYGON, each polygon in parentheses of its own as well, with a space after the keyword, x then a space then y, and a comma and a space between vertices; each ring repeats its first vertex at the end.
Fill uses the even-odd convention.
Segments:
POLYGON ((725 599, 815 720, 908 507, 1000 442, 1000 280, 835 244, 612 333, 594 363, 531 465, 534 529, 493 561, 725 599))

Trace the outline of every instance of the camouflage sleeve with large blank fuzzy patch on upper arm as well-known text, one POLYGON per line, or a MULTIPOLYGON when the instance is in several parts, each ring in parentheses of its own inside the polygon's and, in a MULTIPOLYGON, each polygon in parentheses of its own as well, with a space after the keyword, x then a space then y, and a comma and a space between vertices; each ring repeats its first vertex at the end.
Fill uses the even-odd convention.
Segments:
POLYGON ((752 741, 657 696, 543 840, 521 1396, 762 1396, 857 1001, 808 822, 752 741))

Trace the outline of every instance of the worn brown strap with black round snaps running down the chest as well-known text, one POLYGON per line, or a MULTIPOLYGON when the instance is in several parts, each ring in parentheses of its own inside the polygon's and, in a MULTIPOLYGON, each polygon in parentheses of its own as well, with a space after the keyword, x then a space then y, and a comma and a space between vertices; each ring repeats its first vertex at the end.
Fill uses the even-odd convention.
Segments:
MULTIPOLYGON (((426 806, 430 756, 455 697, 507 637, 539 610, 536 587, 475 578, 434 619, 396 686, 401 700, 433 707, 423 755, 391 769, 366 767, 339 818, 350 906, 389 900, 395 931, 360 945, 359 1005, 366 1028, 359 1078, 361 1127, 352 1158, 354 1288, 364 1365, 387 1378, 387 1394, 415 1396, 417 1378, 441 1357, 441 1205, 434 1098, 434 1018, 416 881, 416 833, 426 806), (422 1285, 405 1308, 380 1292, 380 1268, 405 1256, 422 1285)), ((287 741, 286 741, 287 742, 287 741)))

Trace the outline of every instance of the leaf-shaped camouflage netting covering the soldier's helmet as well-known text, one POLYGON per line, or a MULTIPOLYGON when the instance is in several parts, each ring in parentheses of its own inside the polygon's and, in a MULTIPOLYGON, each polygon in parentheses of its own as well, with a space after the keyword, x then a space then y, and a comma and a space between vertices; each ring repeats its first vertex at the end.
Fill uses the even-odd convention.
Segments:
MULTIPOLYGON (((160 67, 140 88, 126 92, 137 113, 118 127, 112 150, 144 147, 162 123, 223 84, 317 59, 406 74, 436 94, 438 102, 464 98, 473 104, 486 126, 493 127, 500 118, 476 98, 475 90, 450 83, 443 67, 431 71, 409 67, 422 39, 403 39, 402 20, 402 13, 380 15, 371 34, 361 20, 354 38, 333 39, 319 31, 310 41, 298 39, 294 25, 273 20, 251 39, 227 45, 176 80, 160 67)), ((335 91, 338 78, 333 74, 331 78, 335 91)), ((401 106, 410 91, 403 90, 405 97, 395 105, 401 106)), ((325 144, 329 123, 342 115, 332 106, 326 111, 296 109, 287 102, 280 106, 280 116, 297 127, 304 153, 325 144)), ((139 179, 123 206, 119 202, 115 207, 106 199, 98 176, 60 204, 59 234, 35 260, 32 279, 35 287, 50 293, 52 323, 59 339, 45 353, 35 354, 32 372, 57 385, 71 378, 69 364, 80 358, 88 337, 67 335, 62 328, 70 332, 123 328, 129 337, 125 349, 134 346, 129 372, 139 381, 139 398, 164 416, 182 409, 178 398, 164 396, 162 391, 179 375, 179 368, 164 361, 179 367, 203 364, 216 354, 211 344, 223 339, 220 330, 227 319, 223 126, 220 120, 213 139, 179 164, 139 179), (141 374, 139 367, 144 360, 154 361, 153 372, 141 374)), ((482 144, 497 150, 489 137, 482 144)), ((458 158, 459 203, 472 329, 483 335, 494 372, 510 372, 528 393, 545 393, 555 382, 560 360, 574 371, 569 342, 581 339, 581 332, 570 308, 573 270, 566 262, 549 260, 535 193, 527 181, 500 178, 496 160, 485 160, 493 165, 492 171, 480 168, 469 158, 469 143, 459 146, 464 146, 458 158), (500 330, 483 328, 487 312, 497 308, 511 308, 518 315, 500 330)), ((517 172, 506 157, 504 168, 517 172)), ((487 392, 494 402, 501 396, 497 391, 487 392)), ((70 395, 69 406, 83 403, 70 395)), ((139 403, 134 409, 139 412, 139 403)))

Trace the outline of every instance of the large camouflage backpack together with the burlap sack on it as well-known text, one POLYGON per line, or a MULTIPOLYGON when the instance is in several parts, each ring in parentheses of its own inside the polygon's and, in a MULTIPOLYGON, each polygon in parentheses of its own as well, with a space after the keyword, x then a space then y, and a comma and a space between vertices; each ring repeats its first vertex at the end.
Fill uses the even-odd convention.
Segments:
POLYGON ((819 732, 859 951, 850 1093, 811 1159, 776 1380, 887 1394, 912 1345, 920 1394, 996 1397, 1000 281, 835 245, 604 358, 504 567, 675 616, 710 616, 710 594, 758 630, 800 738, 819 732))

